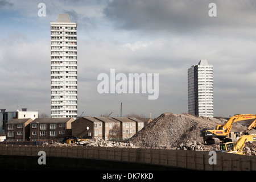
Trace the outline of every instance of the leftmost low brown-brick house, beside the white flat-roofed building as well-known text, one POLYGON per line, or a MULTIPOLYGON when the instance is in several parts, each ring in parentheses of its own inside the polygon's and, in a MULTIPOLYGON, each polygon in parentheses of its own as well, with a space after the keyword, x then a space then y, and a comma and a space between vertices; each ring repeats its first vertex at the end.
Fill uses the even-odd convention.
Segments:
POLYGON ((30 137, 30 123, 32 119, 10 119, 6 123, 7 142, 25 142, 30 137))

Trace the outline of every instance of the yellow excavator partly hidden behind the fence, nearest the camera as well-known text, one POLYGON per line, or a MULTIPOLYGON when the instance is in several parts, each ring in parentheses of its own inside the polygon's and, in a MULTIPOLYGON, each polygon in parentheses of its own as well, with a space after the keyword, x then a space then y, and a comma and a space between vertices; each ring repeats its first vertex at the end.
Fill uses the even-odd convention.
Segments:
POLYGON ((220 144, 220 151, 217 152, 227 152, 230 154, 240 154, 245 155, 243 148, 246 142, 252 142, 256 140, 256 134, 242 135, 236 142, 226 142, 220 144))

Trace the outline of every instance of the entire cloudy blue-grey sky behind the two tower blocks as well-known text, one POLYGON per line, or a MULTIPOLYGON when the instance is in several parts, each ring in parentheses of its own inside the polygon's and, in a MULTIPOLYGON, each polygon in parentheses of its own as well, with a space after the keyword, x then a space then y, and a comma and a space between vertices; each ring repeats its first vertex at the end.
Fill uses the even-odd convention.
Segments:
POLYGON ((51 115, 50 23, 68 13, 77 22, 78 115, 117 117, 121 102, 122 116, 188 113, 187 70, 201 59, 213 65, 214 116, 254 114, 255 10, 254 0, 0 0, 0 109, 51 115), (97 77, 110 69, 157 73, 159 97, 99 93, 97 77))

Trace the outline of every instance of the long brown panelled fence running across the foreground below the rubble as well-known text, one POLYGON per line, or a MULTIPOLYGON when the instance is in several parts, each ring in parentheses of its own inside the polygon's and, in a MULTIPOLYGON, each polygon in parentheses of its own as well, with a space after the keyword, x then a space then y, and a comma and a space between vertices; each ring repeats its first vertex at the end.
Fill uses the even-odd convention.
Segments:
POLYGON ((216 164, 210 164, 209 152, 151 148, 115 148, 89 146, 28 146, 0 144, 0 155, 47 156, 112 160, 205 171, 256 170, 256 157, 216 153, 216 164))

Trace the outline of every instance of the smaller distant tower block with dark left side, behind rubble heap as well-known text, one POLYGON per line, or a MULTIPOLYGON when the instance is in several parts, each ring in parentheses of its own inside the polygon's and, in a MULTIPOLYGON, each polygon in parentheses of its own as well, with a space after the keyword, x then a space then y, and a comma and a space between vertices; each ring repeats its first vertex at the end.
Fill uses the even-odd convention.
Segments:
POLYGON ((188 113, 213 117, 213 67, 205 59, 188 68, 188 113))

